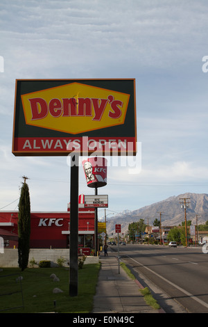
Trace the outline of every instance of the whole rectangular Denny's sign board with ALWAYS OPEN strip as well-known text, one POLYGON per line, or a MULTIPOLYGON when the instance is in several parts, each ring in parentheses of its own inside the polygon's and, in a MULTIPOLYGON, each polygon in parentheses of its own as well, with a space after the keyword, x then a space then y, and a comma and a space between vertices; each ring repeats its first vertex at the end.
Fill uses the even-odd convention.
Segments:
POLYGON ((135 79, 17 80, 16 156, 136 154, 135 79))

